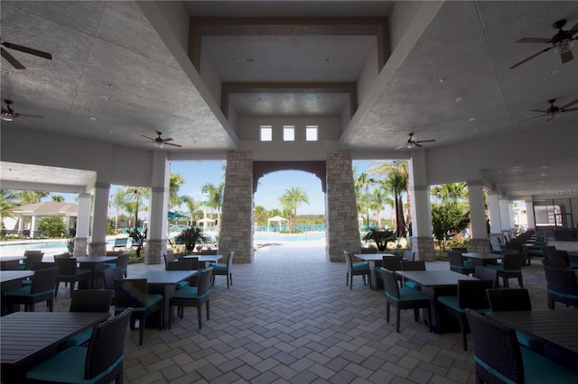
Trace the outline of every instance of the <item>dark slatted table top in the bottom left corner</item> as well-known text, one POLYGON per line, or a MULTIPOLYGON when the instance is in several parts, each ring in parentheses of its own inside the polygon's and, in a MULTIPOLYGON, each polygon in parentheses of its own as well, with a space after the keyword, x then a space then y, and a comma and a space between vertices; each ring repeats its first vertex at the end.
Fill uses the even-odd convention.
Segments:
POLYGON ((0 322, 3 366, 25 362, 38 353, 108 318, 93 312, 15 312, 0 322))

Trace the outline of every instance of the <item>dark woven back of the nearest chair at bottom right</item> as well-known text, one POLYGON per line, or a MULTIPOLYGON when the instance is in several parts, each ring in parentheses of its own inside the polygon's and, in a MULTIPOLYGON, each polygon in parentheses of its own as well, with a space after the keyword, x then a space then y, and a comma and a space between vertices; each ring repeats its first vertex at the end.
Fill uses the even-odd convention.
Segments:
MULTIPOLYGON (((476 374, 480 375, 479 369, 493 370, 511 380, 510 382, 525 382, 516 331, 470 309, 466 309, 466 316, 473 334, 476 374)), ((488 381, 489 379, 496 380, 495 372, 485 376, 482 376, 482 379, 486 382, 492 382, 488 381)))

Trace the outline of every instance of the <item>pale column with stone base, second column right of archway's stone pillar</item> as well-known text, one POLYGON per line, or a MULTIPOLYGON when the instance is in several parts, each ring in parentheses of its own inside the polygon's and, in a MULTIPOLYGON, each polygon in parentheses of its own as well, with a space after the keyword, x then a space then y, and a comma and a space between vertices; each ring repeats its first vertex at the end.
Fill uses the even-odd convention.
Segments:
POLYGON ((483 182, 471 180, 468 184, 468 198, 470 199, 471 246, 474 252, 486 253, 491 251, 486 225, 486 207, 484 206, 483 182))

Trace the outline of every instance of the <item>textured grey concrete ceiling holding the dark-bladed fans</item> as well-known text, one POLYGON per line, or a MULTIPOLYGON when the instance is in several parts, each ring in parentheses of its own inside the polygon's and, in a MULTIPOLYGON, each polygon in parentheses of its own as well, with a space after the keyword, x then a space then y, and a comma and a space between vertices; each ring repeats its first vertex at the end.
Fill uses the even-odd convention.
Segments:
MULTIPOLYGON (((215 17, 391 17, 395 6, 389 1, 185 4, 191 15, 215 17)), ((3 41, 53 56, 48 61, 10 50, 26 67, 21 71, 2 59, 2 99, 13 100, 16 113, 43 116, 22 116, 11 124, 140 149, 151 145, 142 135, 154 137, 157 130, 182 145, 166 151, 237 148, 236 134, 193 86, 137 3, 3 1, 0 7, 3 41)), ((566 29, 578 23, 575 2, 444 3, 431 22, 416 24, 423 32, 410 29, 395 37, 398 42, 416 33, 406 55, 387 63, 387 79, 378 78, 382 87, 360 105, 341 136, 342 147, 394 151, 413 132, 417 140, 435 139, 428 147, 436 148, 578 126, 578 112, 552 122, 527 120, 538 115, 532 110, 545 109, 548 99, 565 105, 578 98, 576 49, 577 59, 564 65, 551 50, 509 69, 546 47, 517 39, 552 37, 552 23, 562 18, 568 19, 566 29)), ((201 54, 222 81, 356 82, 374 46, 374 36, 223 35, 203 38, 201 54)), ((229 102, 247 116, 340 116, 348 99, 344 93, 264 92, 234 94, 229 102)), ((484 169, 484 176, 517 196, 533 195, 539 186, 519 169, 541 174, 543 166, 510 164, 484 169)), ((577 166, 577 158, 549 163, 547 173, 562 175, 551 185, 575 186, 577 166)))

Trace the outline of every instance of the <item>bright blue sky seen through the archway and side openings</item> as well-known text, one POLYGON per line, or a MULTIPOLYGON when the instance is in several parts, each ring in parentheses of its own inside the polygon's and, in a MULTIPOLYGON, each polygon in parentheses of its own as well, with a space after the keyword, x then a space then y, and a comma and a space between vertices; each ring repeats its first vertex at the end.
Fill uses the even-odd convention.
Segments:
MULTIPOLYGON (((367 170, 372 161, 355 160, 353 166, 358 172, 367 170)), ((190 196, 195 200, 201 200, 200 187, 207 183, 218 186, 225 180, 222 167, 226 161, 172 161, 171 173, 178 173, 184 178, 180 196, 190 196)), ((112 196, 117 188, 125 186, 111 186, 112 196)), ((264 206, 266 210, 281 209, 279 197, 291 187, 302 187, 309 197, 309 204, 303 204, 297 208, 297 215, 323 215, 325 213, 325 197, 322 192, 322 183, 312 173, 299 170, 282 170, 266 174, 259 179, 255 194, 255 205, 264 206)), ((67 202, 76 201, 77 195, 55 194, 65 197, 67 202)), ((186 207, 181 207, 186 211, 186 207)))

